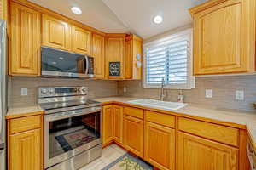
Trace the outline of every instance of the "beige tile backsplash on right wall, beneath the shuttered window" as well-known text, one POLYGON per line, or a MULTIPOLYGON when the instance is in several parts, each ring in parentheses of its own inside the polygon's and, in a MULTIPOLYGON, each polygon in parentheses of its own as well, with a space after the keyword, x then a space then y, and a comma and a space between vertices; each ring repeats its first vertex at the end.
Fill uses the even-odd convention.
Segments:
MULTIPOLYGON (((166 100, 177 101, 179 90, 166 89, 166 100)), ((216 106, 222 109, 255 111, 256 75, 196 77, 195 88, 182 90, 184 101, 199 105, 216 106), (206 89, 212 89, 212 98, 206 98, 206 89), (236 90, 244 91, 244 100, 236 100, 236 90)), ((142 81, 119 81, 118 94, 138 98, 160 98, 160 89, 142 87, 142 81), (124 87, 126 92, 124 93, 124 87)))

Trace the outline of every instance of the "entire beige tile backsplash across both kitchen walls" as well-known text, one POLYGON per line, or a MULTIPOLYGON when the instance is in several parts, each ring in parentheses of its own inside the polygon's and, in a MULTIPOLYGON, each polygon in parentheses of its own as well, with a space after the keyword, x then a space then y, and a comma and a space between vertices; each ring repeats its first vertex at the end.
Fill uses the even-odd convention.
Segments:
MULTIPOLYGON (((108 81, 61 79, 40 77, 9 77, 9 106, 31 106, 38 104, 38 87, 87 86, 90 99, 122 95, 127 97, 159 99, 160 89, 143 88, 142 81, 108 81), (124 87, 126 92, 124 93, 124 87), (28 89, 21 96, 21 88, 28 89)), ((178 90, 166 89, 166 100, 177 101, 178 90)), ((254 111, 256 102, 256 75, 226 77, 196 77, 195 88, 182 90, 185 102, 216 106, 223 109, 254 111), (212 98, 206 98, 206 89, 212 89, 212 98), (236 90, 244 91, 244 100, 236 100, 236 90)))

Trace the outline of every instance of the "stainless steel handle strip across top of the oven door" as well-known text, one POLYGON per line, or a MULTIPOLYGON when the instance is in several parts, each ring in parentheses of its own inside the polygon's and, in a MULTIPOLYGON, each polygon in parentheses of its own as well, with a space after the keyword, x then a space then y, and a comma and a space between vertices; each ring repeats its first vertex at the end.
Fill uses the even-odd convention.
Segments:
POLYGON ((44 116, 45 122, 53 122, 53 121, 58 121, 61 119, 66 119, 74 116, 83 116, 83 115, 88 115, 90 113, 102 111, 102 107, 90 107, 86 109, 81 109, 81 110, 73 110, 73 111, 63 111, 63 112, 58 112, 55 114, 50 114, 44 116))

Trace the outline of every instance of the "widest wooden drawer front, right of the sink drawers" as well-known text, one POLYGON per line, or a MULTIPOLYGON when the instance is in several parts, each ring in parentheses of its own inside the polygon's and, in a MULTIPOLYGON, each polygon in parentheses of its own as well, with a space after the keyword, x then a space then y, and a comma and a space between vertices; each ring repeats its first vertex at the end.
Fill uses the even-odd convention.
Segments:
POLYGON ((224 144, 238 146, 239 131, 236 128, 179 117, 178 129, 224 144))

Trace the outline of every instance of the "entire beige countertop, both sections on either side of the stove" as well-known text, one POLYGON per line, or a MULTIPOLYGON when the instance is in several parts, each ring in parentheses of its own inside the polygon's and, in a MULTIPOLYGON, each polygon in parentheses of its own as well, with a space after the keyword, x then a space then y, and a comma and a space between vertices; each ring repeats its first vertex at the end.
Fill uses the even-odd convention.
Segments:
MULTIPOLYGON (((111 104, 113 102, 117 102, 119 104, 129 104, 130 100, 138 99, 138 98, 130 98, 130 97, 108 97, 108 98, 96 98, 95 101, 101 102, 102 105, 111 104)), ((255 112, 245 112, 245 111, 232 111, 232 110, 224 110, 219 109, 216 107, 211 106, 205 106, 205 105, 195 105, 195 104, 189 104, 182 109, 179 109, 177 111, 174 110, 166 110, 166 109, 159 109, 154 107, 148 107, 144 105, 137 105, 137 106, 143 106, 148 109, 157 109, 161 111, 170 111, 174 114, 180 115, 180 116, 196 116, 196 117, 202 117, 207 118, 209 120, 215 120, 218 122, 221 122, 224 124, 224 122, 227 122, 227 125, 229 126, 230 123, 235 123, 235 127, 240 128, 247 128, 247 132, 249 133, 252 142, 254 144, 254 149, 256 150, 256 111, 255 112)), ((28 116, 28 115, 34 115, 34 114, 42 114, 44 113, 44 110, 39 106, 30 106, 30 107, 20 107, 20 108, 9 108, 9 111, 7 113, 7 118, 13 118, 19 115, 28 116)))

